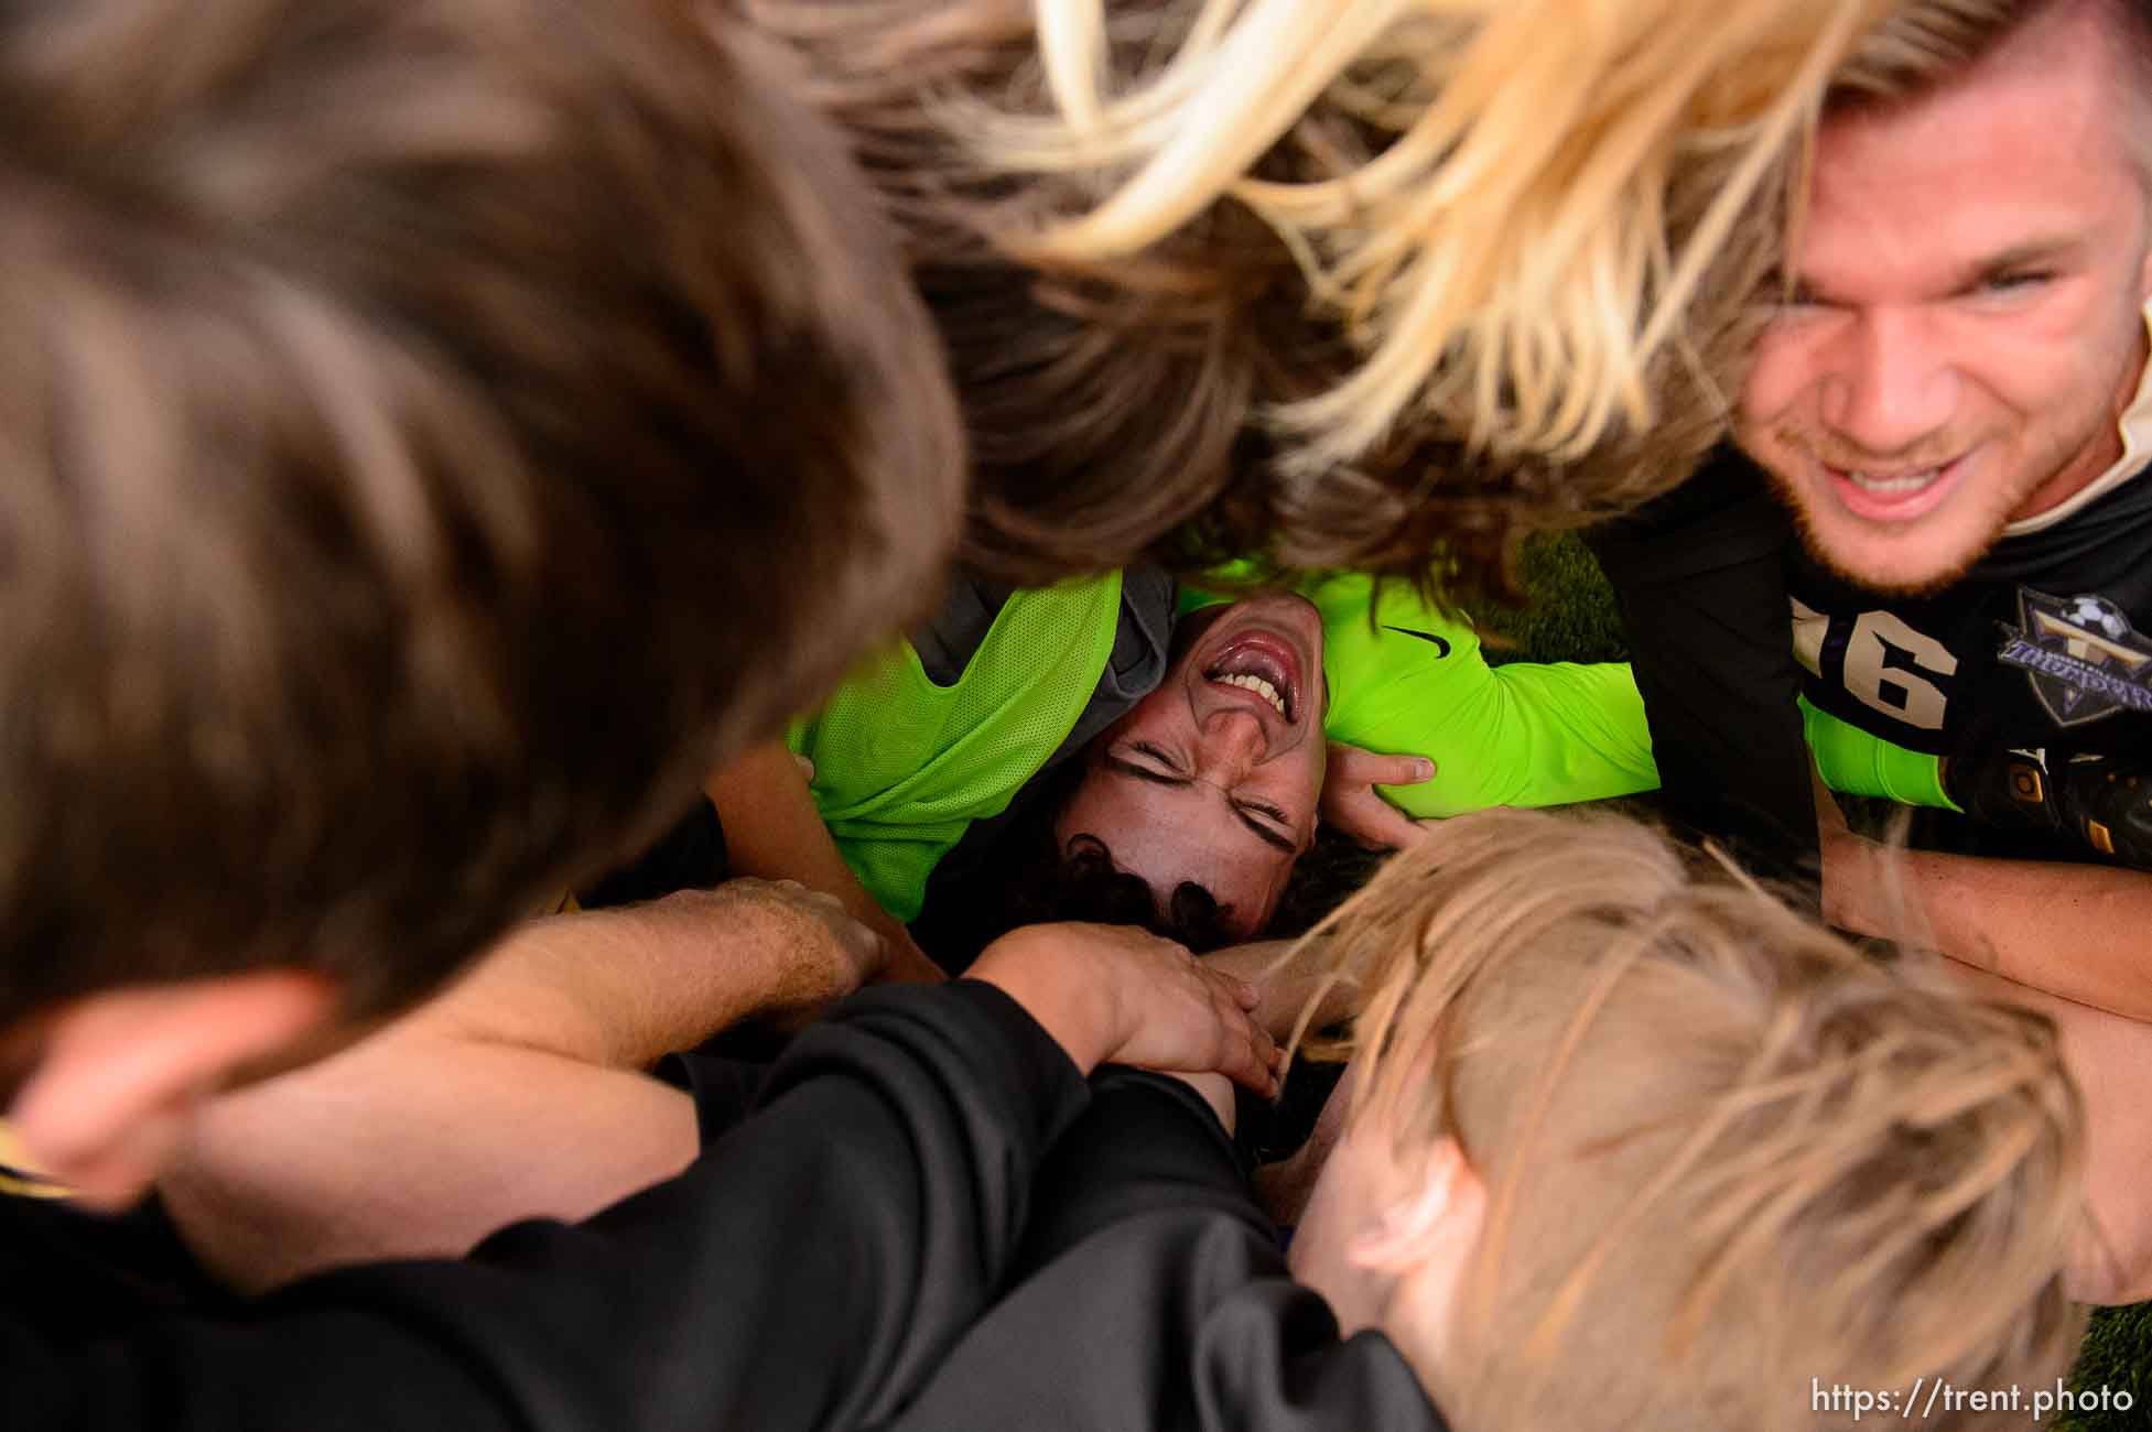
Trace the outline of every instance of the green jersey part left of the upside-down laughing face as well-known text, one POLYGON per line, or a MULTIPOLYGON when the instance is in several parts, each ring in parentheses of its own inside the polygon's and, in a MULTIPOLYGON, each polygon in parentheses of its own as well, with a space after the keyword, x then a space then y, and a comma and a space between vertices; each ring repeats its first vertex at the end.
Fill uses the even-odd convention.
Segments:
POLYGON ((1119 619, 1119 572, 1018 591, 953 686, 897 643, 792 725, 785 744, 813 761, 816 811, 882 910, 912 920, 934 864, 1061 748, 1119 619))

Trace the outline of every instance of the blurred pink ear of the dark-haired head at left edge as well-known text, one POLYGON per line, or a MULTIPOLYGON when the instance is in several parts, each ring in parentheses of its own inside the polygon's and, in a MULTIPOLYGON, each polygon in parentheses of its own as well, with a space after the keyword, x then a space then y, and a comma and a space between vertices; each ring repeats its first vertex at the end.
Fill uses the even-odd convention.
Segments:
POLYGON ((331 987, 303 970, 252 970, 84 996, 45 1039, 9 1122, 39 1172, 77 1202, 123 1208, 157 1178, 202 1094, 321 1026, 331 987))

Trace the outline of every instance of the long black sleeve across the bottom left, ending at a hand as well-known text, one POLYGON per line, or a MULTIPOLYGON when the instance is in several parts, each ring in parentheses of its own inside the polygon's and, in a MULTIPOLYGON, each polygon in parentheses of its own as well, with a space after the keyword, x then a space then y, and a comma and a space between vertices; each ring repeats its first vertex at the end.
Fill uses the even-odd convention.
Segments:
POLYGON ((869 991, 796 1039, 686 1174, 587 1223, 519 1223, 465 1262, 329 1273, 243 1320, 65 1350, 34 1331, 34 1290, 9 1288, 0 1426, 872 1423, 986 1307, 1031 1174, 1085 1101, 1001 991, 869 991))

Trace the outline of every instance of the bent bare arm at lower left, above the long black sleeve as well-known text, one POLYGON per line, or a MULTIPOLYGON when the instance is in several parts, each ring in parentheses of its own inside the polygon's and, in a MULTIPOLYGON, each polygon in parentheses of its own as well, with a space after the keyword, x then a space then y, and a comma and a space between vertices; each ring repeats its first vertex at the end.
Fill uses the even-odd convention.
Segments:
POLYGON ((758 879, 532 920, 370 1039, 213 1101, 161 1191, 243 1290, 581 1219, 695 1157, 693 1103, 646 1064, 878 961, 833 901, 758 879))

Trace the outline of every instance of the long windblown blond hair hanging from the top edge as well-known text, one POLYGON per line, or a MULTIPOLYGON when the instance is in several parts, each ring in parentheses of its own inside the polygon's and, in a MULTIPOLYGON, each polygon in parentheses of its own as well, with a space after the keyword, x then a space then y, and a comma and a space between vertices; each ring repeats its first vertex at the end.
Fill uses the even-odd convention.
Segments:
POLYGON ((1052 114, 958 123, 992 168, 1095 176, 1089 213, 1011 239, 1039 260, 1123 260, 1220 198, 1276 230, 1364 353, 1274 411, 1291 467, 1354 462, 1420 413, 1481 452, 1573 460, 1655 421, 1653 357, 1885 9, 1205 0, 1132 17, 1179 39, 1130 82, 1106 65, 1104 0, 1039 0, 1052 114), (1304 125, 1317 105, 1345 125, 1304 125), (1274 148, 1287 178, 1250 176, 1274 148), (1726 155, 1670 234, 1674 174, 1726 155))

